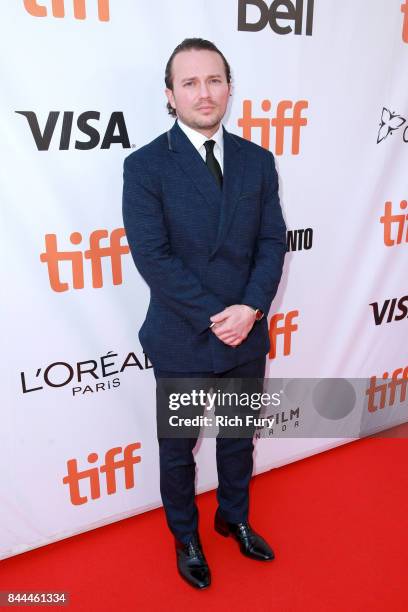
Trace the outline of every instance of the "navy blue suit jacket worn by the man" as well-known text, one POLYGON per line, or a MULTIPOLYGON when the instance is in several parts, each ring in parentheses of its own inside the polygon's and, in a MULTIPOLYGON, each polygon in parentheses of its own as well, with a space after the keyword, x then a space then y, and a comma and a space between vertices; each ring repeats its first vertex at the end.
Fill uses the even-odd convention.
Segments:
POLYGON ((139 340, 159 369, 223 372, 270 349, 286 252, 278 176, 272 153, 223 132, 222 190, 177 121, 124 161, 124 227, 150 288, 139 340), (232 304, 265 313, 237 347, 209 329, 232 304))

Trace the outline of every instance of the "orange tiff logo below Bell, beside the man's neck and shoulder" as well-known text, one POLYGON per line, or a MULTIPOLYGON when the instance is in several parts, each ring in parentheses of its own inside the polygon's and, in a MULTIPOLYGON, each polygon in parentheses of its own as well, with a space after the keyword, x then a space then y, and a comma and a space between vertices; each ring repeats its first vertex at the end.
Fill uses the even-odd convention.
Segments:
MULTIPOLYGON (((261 108, 266 113, 271 110, 271 101, 262 100, 261 108)), ((242 103, 242 117, 238 119, 239 127, 242 127, 242 136, 247 140, 252 140, 252 128, 261 128, 261 146, 269 149, 271 125, 276 130, 275 136, 275 155, 283 154, 283 144, 285 127, 292 130, 292 155, 299 154, 300 147, 300 128, 307 125, 307 119, 302 117, 302 110, 308 108, 306 100, 293 102, 291 100, 281 100, 276 107, 276 116, 254 117, 252 114, 252 101, 244 100, 242 103), (286 116, 286 111, 292 110, 290 116, 286 116)))

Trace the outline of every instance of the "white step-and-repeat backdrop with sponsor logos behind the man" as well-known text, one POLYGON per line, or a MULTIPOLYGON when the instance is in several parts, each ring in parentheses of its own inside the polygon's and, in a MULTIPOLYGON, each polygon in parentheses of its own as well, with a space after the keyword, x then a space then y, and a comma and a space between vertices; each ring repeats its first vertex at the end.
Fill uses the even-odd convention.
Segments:
MULTIPOLYGON (((394 423, 381 381, 408 377, 408 1, 13 0, 1 28, 0 557, 160 505, 122 167, 172 125, 164 67, 185 37, 231 63, 227 129, 275 154, 289 252, 267 376, 366 377, 385 390, 365 427, 394 423)), ((257 472, 350 439, 284 439, 301 415, 284 416, 257 472)), ((214 442, 199 491, 216 486, 214 442)))

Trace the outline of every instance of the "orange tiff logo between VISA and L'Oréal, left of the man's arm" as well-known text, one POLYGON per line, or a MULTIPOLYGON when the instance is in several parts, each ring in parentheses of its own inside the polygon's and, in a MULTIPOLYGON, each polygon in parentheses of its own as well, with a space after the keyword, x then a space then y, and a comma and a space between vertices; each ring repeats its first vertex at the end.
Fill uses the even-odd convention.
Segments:
MULTIPOLYGON (((84 258, 91 262, 92 287, 100 289, 103 286, 102 259, 110 260, 112 281, 114 285, 122 284, 122 255, 129 253, 129 247, 121 244, 125 236, 123 227, 114 229, 110 236, 107 230, 95 230, 89 236, 89 249, 84 251, 59 251, 56 234, 45 235, 45 251, 40 254, 40 260, 47 264, 51 289, 57 292, 68 291, 67 282, 60 278, 60 263, 71 262, 72 288, 84 288, 84 258), (101 246, 101 240, 109 237, 108 246, 101 246)), ((73 232, 70 236, 72 244, 81 244, 82 234, 73 232)))

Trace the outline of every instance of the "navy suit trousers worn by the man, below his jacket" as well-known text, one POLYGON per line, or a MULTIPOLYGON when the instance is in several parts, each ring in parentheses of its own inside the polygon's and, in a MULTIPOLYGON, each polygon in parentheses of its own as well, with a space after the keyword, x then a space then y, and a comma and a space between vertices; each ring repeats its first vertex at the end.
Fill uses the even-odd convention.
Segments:
MULTIPOLYGON (((252 380, 248 388, 262 392, 265 359, 260 357, 225 372, 171 372, 153 367, 157 378, 242 378, 252 380)), ((245 381, 243 382, 245 388, 245 381)), ((159 408, 158 408, 159 409, 159 408)), ((158 436, 160 459, 160 493, 167 524, 173 535, 187 544, 198 529, 195 504, 195 460, 193 449, 197 436, 164 438, 158 436)), ((216 438, 218 472, 217 500, 220 513, 229 522, 248 520, 249 483, 253 470, 253 438, 216 438)))

